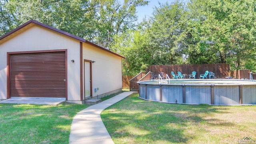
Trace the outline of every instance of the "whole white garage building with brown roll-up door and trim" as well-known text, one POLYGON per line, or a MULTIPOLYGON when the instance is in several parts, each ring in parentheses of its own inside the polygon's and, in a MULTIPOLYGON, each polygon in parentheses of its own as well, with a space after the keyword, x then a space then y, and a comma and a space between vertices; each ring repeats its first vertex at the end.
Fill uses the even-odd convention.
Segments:
POLYGON ((0 99, 66 98, 82 104, 122 90, 122 58, 30 20, 0 37, 0 99))

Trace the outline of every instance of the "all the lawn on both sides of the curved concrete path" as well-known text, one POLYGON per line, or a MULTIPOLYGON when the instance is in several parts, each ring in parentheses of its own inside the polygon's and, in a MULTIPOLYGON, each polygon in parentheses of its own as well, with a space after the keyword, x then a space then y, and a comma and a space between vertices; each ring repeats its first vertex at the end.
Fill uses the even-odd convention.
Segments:
MULTIPOLYGON (((137 96, 101 114, 115 144, 230 144, 243 137, 256 139, 256 106, 165 104, 137 96)), ((0 104, 0 144, 68 144, 72 119, 88 106, 0 104)))

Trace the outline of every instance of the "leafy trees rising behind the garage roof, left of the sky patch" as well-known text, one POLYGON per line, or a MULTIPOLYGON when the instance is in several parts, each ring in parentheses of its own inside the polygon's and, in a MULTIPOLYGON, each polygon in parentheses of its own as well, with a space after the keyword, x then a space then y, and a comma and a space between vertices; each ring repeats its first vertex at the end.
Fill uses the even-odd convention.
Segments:
POLYGON ((136 7, 146 0, 1 0, 0 34, 30 19, 48 24, 108 48, 116 34, 132 29, 136 7))

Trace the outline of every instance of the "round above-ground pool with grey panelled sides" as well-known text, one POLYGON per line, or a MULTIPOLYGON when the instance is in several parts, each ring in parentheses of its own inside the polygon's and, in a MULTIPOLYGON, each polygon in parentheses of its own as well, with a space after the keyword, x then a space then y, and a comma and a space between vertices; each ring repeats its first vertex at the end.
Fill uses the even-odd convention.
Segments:
POLYGON ((210 105, 256 104, 255 80, 142 81, 139 95, 146 100, 210 105))

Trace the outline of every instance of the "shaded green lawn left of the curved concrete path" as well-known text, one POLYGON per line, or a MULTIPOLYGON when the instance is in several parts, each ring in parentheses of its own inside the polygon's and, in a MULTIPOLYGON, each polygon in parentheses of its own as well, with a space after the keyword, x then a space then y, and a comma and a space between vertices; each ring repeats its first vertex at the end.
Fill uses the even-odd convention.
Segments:
POLYGON ((0 144, 68 144, 74 116, 88 106, 0 104, 0 144))

